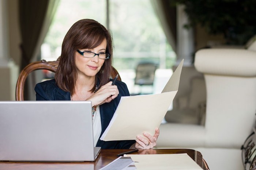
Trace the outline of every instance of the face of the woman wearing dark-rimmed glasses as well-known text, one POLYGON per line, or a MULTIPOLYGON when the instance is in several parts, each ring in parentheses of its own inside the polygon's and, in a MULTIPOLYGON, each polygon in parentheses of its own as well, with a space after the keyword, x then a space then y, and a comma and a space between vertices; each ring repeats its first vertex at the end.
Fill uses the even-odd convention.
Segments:
MULTIPOLYGON (((90 51, 93 53, 106 53, 107 40, 104 39, 103 42, 94 49, 78 49, 80 51, 90 51)), ((94 77, 101 69, 105 59, 100 59, 98 55, 93 58, 86 58, 83 55, 75 52, 75 64, 78 72, 78 76, 94 77)))

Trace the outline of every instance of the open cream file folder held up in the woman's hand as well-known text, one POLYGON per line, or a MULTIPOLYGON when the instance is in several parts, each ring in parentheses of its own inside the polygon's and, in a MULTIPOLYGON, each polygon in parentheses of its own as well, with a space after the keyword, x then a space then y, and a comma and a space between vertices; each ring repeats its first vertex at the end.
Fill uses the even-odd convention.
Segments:
POLYGON ((178 91, 183 61, 184 59, 162 93, 121 97, 116 112, 100 139, 136 140, 136 136, 143 136, 143 132, 154 135, 155 128, 161 124, 178 91))

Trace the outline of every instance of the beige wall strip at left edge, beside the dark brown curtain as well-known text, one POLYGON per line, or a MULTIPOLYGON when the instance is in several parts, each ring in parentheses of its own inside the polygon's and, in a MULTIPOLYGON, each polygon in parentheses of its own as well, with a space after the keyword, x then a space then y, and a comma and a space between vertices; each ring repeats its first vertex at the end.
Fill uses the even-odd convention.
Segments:
POLYGON ((18 0, 1 0, 0 100, 15 100, 20 60, 17 7, 18 0))

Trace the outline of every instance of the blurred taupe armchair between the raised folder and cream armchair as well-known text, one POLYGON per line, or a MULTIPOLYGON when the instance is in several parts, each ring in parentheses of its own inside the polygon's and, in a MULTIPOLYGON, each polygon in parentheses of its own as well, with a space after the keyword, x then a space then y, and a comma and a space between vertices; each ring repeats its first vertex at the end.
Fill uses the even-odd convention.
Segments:
MULTIPOLYGON (((182 68, 182 71, 184 68, 182 68)), ((181 82, 182 80, 180 80, 180 85, 181 82)), ((188 85, 190 86, 188 93, 184 93, 184 95, 176 94, 173 100, 173 109, 167 111, 165 120, 169 123, 204 125, 206 116, 206 85, 204 78, 192 77, 188 85)), ((178 92, 182 90, 179 87, 178 92)))

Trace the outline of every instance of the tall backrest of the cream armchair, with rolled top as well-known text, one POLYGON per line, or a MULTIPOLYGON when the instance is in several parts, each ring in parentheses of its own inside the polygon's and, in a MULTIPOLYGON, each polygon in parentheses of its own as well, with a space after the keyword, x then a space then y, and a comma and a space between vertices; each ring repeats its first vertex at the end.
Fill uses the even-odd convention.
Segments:
POLYGON ((207 91, 207 145, 240 148, 251 134, 256 111, 256 52, 203 49, 195 67, 204 74, 207 91))

